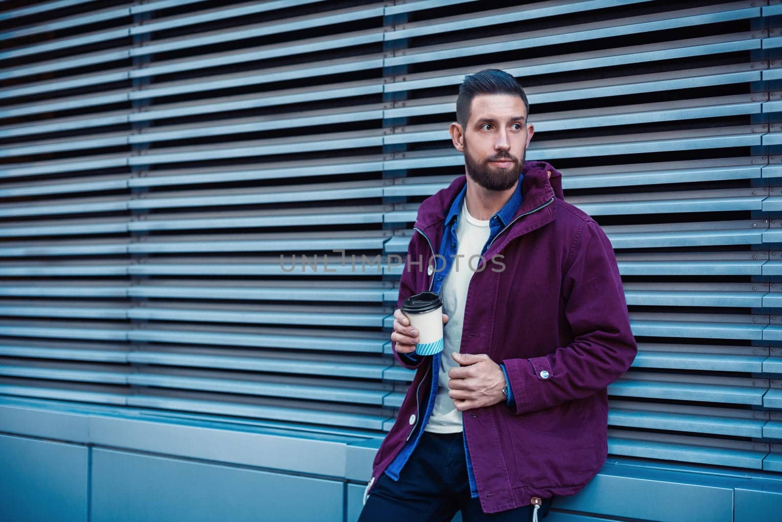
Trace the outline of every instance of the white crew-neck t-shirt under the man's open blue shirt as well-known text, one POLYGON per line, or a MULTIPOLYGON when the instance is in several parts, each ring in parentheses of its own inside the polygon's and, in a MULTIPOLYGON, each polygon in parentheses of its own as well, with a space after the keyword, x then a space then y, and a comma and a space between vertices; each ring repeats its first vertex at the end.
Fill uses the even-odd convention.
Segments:
POLYGON ((456 433, 464 430, 461 412, 456 409, 454 399, 448 397, 448 370, 457 368, 451 354, 459 352, 461 345, 461 327, 465 319, 465 302, 467 289, 472 274, 478 267, 479 254, 489 239, 489 221, 475 219, 467 211, 467 198, 461 204, 461 214, 457 220, 457 256, 454 257, 450 272, 443 281, 440 295, 443 297, 443 313, 448 315, 448 322, 443 326, 443 353, 440 356, 439 387, 435 399, 432 416, 424 427, 425 431, 439 434, 456 433), (475 256, 472 261, 470 257, 475 256))

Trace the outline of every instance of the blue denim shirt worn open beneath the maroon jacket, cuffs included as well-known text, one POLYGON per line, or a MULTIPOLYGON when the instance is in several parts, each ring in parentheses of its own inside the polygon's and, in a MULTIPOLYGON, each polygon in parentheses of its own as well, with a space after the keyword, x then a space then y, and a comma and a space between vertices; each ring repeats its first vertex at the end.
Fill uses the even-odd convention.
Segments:
MULTIPOLYGON (((486 239, 486 244, 484 244, 481 254, 486 253, 486 249, 489 247, 491 241, 494 239, 495 236, 497 236, 497 233, 500 232, 500 230, 508 226, 514 214, 516 213, 516 211, 518 211, 518 207, 522 204, 523 178, 524 175, 518 176, 518 183, 516 184, 516 189, 511 195, 510 199, 508 200, 507 203, 504 204, 504 206, 500 209, 500 211, 497 211, 497 214, 494 214, 491 217, 489 222, 489 231, 490 231, 489 238, 486 239)), ((442 255, 443 258, 442 259, 439 257, 435 258, 437 263, 436 271, 435 271, 436 275, 435 275, 434 283, 432 284, 432 292, 434 293, 440 293, 440 290, 442 290, 443 287, 443 281, 445 280, 446 275, 450 270, 450 267, 454 264, 454 256, 458 251, 456 232, 457 232, 457 225, 459 220, 459 211, 461 211, 461 205, 462 202, 465 200, 466 193, 467 193, 467 185, 465 185, 465 187, 461 189, 461 192, 456 196, 456 199, 454 200, 454 203, 451 204, 447 217, 443 222, 443 227, 444 227, 443 241, 440 243, 439 246, 439 254, 442 255)), ((437 397, 437 388, 439 385, 438 377, 439 377, 441 355, 442 354, 432 355, 433 358, 432 372, 433 373, 437 372, 437 373, 432 376, 432 387, 429 390, 429 400, 426 405, 424 420, 423 422, 419 423, 417 427, 414 428, 414 430, 417 431, 411 435, 411 437, 407 440, 407 443, 404 445, 404 448, 402 448, 402 451, 399 452, 399 455, 396 455, 396 459, 394 459, 393 462, 388 466, 388 468, 386 468, 386 475, 391 477, 394 481, 399 480, 399 473, 401 472, 405 463, 407 463, 407 459, 409 459, 410 455, 412 455, 415 447, 418 445, 418 440, 421 438, 421 434, 424 431, 424 427, 426 423, 429 422, 429 417, 432 416, 432 409, 434 409, 435 399, 437 397)), ((422 355, 418 355, 415 352, 413 352, 412 354, 400 354, 400 356, 407 358, 410 362, 417 362, 419 358, 423 357, 422 355)), ((511 408, 515 408, 513 391, 511 390, 510 381, 508 380, 508 372, 505 370, 505 365, 500 364, 500 368, 505 374, 505 383, 508 384, 508 406, 511 408)), ((478 487, 475 485, 475 475, 472 471, 472 461, 470 460, 470 452, 467 447, 466 437, 464 438, 464 443, 465 443, 465 458, 467 460, 467 474, 470 482, 470 496, 472 498, 477 498, 478 487)))

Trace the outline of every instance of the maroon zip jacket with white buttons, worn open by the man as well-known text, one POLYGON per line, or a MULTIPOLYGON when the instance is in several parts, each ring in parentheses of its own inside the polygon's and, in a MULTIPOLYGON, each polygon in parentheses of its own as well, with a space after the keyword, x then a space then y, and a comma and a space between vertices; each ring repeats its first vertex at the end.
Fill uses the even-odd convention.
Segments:
MULTIPOLYGON (((516 403, 515 411, 500 401, 463 415, 485 513, 526 506, 533 497, 573 495, 597 474, 608 455, 606 387, 637 352, 608 238, 565 203, 554 167, 527 161, 523 174, 521 206, 486 250, 485 268, 472 275, 461 336, 462 353, 504 362, 516 403), (492 261, 495 254, 504 256, 504 270, 492 261)), ((427 261, 465 182, 459 176, 418 208, 397 306, 431 287, 435 274, 427 273, 427 261), (407 265, 419 256, 422 266, 407 265)), ((413 428, 408 419, 426 405, 431 385, 431 356, 416 365, 394 356, 417 372, 375 455, 368 493, 403 448, 413 428)))

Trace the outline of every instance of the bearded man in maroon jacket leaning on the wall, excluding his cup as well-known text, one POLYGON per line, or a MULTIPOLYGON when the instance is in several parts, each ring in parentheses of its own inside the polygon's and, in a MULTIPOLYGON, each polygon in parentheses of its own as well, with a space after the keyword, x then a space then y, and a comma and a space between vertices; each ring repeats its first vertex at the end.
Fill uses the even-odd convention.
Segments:
POLYGON ((637 352, 611 243, 565 203, 554 167, 525 161, 522 87, 482 70, 456 112, 465 175, 421 203, 397 301, 441 295, 444 349, 415 354, 418 332, 394 312, 394 355, 417 371, 360 520, 545 517, 604 464, 606 387, 637 352))

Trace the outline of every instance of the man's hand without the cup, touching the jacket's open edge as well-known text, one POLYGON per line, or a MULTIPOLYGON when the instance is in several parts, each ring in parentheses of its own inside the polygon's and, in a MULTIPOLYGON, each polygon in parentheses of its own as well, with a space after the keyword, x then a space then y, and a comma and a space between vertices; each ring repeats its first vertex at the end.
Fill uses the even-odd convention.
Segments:
POLYGON ((448 397, 460 412, 505 401, 505 374, 486 354, 451 354, 461 366, 448 370, 448 397))

